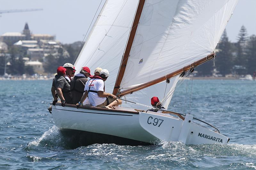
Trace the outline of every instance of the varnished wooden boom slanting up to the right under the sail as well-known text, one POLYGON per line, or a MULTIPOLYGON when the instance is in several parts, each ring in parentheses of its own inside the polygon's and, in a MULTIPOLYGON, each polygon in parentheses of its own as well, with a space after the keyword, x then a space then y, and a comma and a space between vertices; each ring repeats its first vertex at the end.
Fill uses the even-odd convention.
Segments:
POLYGON ((191 63, 190 65, 187 65, 187 66, 183 67, 180 70, 177 70, 177 71, 174 71, 174 72, 172 72, 170 74, 167 74, 166 76, 163 76, 163 77, 157 78, 155 80, 149 81, 147 83, 143 83, 141 85, 138 85, 138 86, 132 87, 130 89, 124 90, 124 91, 120 92, 117 95, 117 97, 121 97, 121 96, 124 96, 126 94, 131 94, 133 92, 136 92, 138 90, 144 89, 144 88, 149 87, 151 85, 155 85, 157 83, 160 83, 160 82, 166 80, 166 78, 169 79, 169 78, 172 78, 174 76, 177 76, 177 75, 181 74, 183 71, 186 72, 186 71, 190 70, 191 68, 195 68, 195 67, 199 66, 200 64, 205 63, 205 62, 211 60, 215 56, 216 56, 215 53, 211 53, 211 54, 207 55, 206 57, 204 57, 204 58, 202 58, 202 59, 200 59, 200 60, 198 60, 198 61, 196 61, 194 63, 191 63))

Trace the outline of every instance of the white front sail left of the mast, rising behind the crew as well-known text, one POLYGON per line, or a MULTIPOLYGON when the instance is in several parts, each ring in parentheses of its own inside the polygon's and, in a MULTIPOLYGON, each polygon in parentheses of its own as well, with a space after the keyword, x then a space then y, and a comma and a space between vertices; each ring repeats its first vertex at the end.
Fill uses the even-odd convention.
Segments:
POLYGON ((87 66, 108 69, 106 92, 112 93, 138 1, 106 1, 75 62, 76 70, 87 66))

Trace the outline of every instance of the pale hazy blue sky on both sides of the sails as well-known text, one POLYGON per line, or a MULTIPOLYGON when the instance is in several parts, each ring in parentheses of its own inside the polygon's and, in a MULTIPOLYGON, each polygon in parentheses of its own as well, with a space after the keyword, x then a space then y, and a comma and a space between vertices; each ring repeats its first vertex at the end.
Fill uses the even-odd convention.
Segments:
MULTIPOLYGON (((1 11, 43 9, 43 11, 1 14, 0 34, 22 32, 25 23, 28 22, 32 33, 52 34, 62 43, 83 41, 99 4, 100 0, 0 0, 1 11)), ((226 27, 230 41, 236 41, 242 25, 247 29, 248 35, 256 34, 256 0, 238 2, 226 27)))

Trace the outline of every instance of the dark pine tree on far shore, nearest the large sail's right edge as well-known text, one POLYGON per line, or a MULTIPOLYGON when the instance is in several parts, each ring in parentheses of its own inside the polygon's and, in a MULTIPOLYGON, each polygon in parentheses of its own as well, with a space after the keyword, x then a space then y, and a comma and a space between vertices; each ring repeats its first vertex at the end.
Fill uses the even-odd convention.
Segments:
POLYGON ((216 52, 216 68, 220 71, 222 76, 231 73, 232 69, 232 48, 231 43, 228 41, 226 30, 224 30, 220 43, 217 46, 218 52, 216 52))

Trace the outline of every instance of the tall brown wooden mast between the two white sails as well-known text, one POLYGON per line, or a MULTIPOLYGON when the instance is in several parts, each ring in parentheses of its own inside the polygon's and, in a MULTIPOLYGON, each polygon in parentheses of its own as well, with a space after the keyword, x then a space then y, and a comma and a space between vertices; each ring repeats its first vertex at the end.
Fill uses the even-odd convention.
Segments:
POLYGON ((140 0, 139 4, 138 4, 138 8, 137 8, 137 11, 136 11, 136 14, 135 14, 135 17, 134 17, 134 20, 133 20, 133 24, 132 24, 131 33, 130 33, 130 36, 129 36, 129 39, 128 39, 128 42, 127 42, 127 45, 126 45, 126 49, 125 49, 125 52, 124 52, 124 57, 122 59, 121 66, 120 66, 120 69, 119 69, 119 73, 118 73, 117 78, 116 78, 116 83, 115 83, 115 87, 114 87, 114 90, 113 90, 114 95, 117 94, 118 89, 119 89, 120 84, 121 84, 121 81, 124 77, 125 67, 126 67, 128 57, 129 57, 129 54, 130 54, 130 51, 131 51, 131 48, 132 48, 132 42, 133 42, 133 39, 135 37, 135 33, 136 33, 136 30, 137 30, 137 27, 138 27, 138 24, 139 24, 139 21, 140 21, 140 15, 141 15, 144 3, 145 3, 145 0, 140 0))

